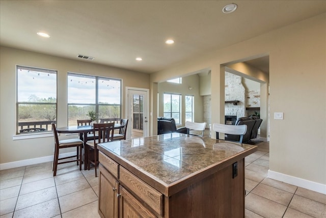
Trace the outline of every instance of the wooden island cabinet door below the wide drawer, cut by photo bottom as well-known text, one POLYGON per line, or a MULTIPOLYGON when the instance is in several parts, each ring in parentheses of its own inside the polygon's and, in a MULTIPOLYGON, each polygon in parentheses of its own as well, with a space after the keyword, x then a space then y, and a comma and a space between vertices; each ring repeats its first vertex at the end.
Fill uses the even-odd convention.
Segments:
POLYGON ((120 218, 148 218, 156 217, 151 211, 145 208, 125 188, 120 186, 119 217, 120 218))

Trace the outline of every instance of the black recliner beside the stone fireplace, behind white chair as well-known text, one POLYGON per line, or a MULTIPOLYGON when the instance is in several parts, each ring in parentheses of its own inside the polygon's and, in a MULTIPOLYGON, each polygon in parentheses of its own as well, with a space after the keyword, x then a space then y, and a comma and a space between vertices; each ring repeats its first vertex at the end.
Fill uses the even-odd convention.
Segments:
MULTIPOLYGON (((256 139, 258 128, 262 122, 258 116, 240 117, 235 121, 235 125, 247 125, 247 132, 243 135, 243 143, 250 144, 251 139, 256 139)), ((239 135, 227 134, 225 140, 239 141, 239 135)))

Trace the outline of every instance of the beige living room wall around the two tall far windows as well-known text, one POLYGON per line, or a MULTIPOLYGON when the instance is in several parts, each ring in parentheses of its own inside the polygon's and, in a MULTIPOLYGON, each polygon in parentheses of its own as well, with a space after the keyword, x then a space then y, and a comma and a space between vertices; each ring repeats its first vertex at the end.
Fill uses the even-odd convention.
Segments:
MULTIPOLYGON (((193 95, 194 122, 204 122, 203 97, 199 95, 199 75, 194 74, 182 78, 182 84, 162 82, 158 84, 158 117, 164 117, 164 93, 181 94, 181 125, 185 125, 185 95, 193 95), (192 89, 189 90, 188 88, 192 89)), ((178 126, 179 127, 179 126, 178 126)))

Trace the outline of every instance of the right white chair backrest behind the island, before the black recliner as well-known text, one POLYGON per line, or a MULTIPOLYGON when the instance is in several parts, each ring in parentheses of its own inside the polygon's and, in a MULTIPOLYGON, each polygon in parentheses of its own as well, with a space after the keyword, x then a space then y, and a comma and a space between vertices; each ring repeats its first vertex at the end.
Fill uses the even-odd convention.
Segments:
POLYGON ((247 132, 247 125, 226 125, 213 123, 213 130, 216 132, 216 139, 220 139, 219 133, 240 135, 239 143, 242 143, 243 135, 247 132))

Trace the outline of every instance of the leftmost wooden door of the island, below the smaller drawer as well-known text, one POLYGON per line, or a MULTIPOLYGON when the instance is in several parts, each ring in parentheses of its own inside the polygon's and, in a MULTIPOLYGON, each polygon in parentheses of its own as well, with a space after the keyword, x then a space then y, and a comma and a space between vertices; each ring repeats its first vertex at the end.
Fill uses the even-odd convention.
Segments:
POLYGON ((98 213, 101 217, 118 217, 119 183, 100 165, 98 213))

